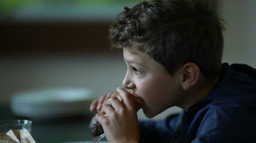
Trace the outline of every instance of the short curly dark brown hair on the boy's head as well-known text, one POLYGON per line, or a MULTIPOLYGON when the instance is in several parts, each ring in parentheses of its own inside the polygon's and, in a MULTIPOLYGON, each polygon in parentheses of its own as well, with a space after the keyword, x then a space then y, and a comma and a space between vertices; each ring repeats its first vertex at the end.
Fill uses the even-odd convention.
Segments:
POLYGON ((109 30, 112 48, 139 51, 173 76, 183 64, 197 64, 207 77, 221 72, 224 26, 212 1, 156 0, 125 7, 109 30))

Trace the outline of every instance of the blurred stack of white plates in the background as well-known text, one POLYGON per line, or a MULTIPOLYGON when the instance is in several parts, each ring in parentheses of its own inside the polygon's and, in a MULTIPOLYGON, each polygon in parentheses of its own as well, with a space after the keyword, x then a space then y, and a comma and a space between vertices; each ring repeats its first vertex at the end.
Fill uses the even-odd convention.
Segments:
POLYGON ((90 89, 59 88, 19 92, 11 98, 11 111, 34 119, 77 116, 89 113, 94 95, 90 89))

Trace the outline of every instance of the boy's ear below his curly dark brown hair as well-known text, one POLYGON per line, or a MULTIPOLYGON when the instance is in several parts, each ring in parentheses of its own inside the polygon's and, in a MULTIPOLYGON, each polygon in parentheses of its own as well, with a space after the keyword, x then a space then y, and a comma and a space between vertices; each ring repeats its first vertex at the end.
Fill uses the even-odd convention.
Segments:
POLYGON ((181 73, 181 85, 184 90, 188 90, 192 86, 194 86, 199 79, 200 69, 197 64, 194 63, 186 63, 182 67, 181 73))

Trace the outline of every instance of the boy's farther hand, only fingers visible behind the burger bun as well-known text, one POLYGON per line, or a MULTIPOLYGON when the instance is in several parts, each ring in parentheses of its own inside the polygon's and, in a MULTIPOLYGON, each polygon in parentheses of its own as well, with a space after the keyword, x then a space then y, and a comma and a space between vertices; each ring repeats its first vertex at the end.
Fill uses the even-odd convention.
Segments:
POLYGON ((114 95, 116 95, 116 93, 117 92, 110 92, 107 95, 101 96, 98 100, 92 101, 90 110, 91 111, 96 111, 96 110, 100 111, 101 108, 103 107, 104 102, 107 101, 110 97, 113 97, 114 95))

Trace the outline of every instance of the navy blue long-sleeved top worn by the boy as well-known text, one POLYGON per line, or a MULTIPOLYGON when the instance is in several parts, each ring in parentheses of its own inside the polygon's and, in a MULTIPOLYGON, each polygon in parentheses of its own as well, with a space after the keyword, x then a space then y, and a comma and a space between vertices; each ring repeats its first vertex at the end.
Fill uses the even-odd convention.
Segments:
POLYGON ((140 142, 256 142, 256 70, 222 64, 209 95, 164 120, 139 121, 140 142))

